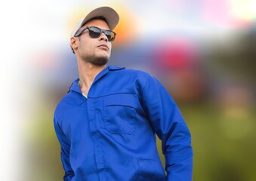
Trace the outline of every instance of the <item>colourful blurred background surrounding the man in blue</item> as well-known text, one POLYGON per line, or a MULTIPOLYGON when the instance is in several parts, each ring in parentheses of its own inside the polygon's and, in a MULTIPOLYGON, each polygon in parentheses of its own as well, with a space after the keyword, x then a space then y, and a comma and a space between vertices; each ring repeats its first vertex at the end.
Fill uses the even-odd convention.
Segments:
POLYGON ((109 64, 150 72, 184 115, 193 180, 256 180, 254 0, 3 3, 2 180, 62 180, 52 118, 78 77, 69 34, 86 12, 103 5, 120 15, 109 64))

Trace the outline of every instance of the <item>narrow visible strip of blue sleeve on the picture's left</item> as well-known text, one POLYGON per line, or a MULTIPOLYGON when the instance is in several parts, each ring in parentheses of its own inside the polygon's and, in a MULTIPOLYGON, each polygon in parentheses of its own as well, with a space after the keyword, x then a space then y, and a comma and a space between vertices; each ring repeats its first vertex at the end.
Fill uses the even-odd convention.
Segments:
POLYGON ((69 151, 70 151, 70 142, 67 139, 66 135, 60 128, 60 125, 57 123, 56 118, 54 117, 54 129, 57 135, 57 139, 60 142, 60 158, 63 164, 63 169, 65 174, 63 176, 64 181, 71 181, 74 176, 74 171, 70 165, 69 161, 69 151))

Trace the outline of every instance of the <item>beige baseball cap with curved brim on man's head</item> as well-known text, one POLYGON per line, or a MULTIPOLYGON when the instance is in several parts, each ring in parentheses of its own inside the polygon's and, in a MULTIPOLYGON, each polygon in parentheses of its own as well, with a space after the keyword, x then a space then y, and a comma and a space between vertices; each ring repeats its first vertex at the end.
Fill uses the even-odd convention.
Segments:
POLYGON ((75 28, 72 30, 70 38, 74 35, 76 35, 76 32, 85 24, 88 22, 88 20, 91 20, 94 17, 105 17, 106 21, 109 25, 109 29, 113 30, 117 23, 119 23, 119 14, 113 9, 109 7, 100 7, 96 8, 90 13, 88 13, 85 17, 83 17, 79 22, 76 24, 75 28))

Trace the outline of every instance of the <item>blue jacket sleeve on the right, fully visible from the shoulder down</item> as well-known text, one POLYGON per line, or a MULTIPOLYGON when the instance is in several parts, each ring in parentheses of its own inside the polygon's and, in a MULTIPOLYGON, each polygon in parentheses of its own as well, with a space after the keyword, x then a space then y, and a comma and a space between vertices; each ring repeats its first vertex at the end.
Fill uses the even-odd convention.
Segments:
POLYGON ((160 140, 165 155, 166 180, 190 181, 193 149, 190 130, 165 87, 150 76, 143 87, 143 109, 160 140))

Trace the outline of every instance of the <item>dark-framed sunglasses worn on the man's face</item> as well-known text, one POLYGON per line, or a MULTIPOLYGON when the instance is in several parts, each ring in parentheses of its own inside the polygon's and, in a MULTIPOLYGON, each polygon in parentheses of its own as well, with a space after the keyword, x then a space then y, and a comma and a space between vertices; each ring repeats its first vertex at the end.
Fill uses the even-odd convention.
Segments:
POLYGON ((76 36, 79 36, 82 34, 82 32, 85 32, 86 29, 89 29, 89 35, 91 38, 99 38, 102 32, 106 35, 108 41, 114 41, 116 38, 116 32, 113 32, 111 30, 105 30, 100 29, 95 26, 86 26, 84 29, 79 30, 79 32, 76 32, 76 36))

